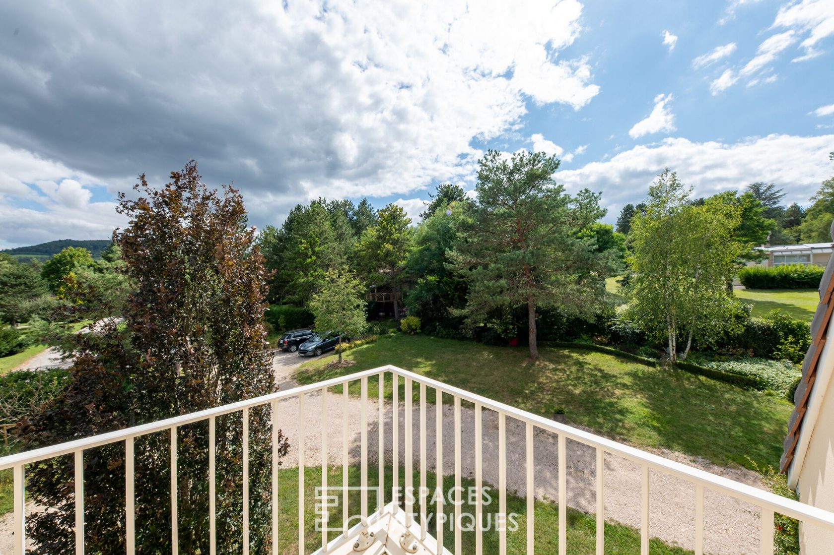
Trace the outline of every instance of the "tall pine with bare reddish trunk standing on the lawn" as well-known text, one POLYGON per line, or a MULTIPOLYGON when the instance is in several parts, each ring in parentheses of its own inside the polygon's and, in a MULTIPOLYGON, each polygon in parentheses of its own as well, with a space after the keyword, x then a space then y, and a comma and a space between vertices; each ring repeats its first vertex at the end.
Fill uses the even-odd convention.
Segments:
POLYGON ((610 252, 579 232, 605 215, 599 195, 575 197, 553 180, 559 160, 543 153, 505 155, 490 150, 480 160, 477 200, 454 262, 469 290, 460 311, 480 323, 495 309, 527 308, 530 358, 539 358, 536 309, 556 307, 588 318, 605 298, 610 252))

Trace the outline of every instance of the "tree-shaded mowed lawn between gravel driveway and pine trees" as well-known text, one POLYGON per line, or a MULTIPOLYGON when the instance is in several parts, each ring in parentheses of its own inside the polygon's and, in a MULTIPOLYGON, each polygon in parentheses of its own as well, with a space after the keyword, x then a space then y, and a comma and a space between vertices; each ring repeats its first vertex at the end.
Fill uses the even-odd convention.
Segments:
MULTIPOLYGON (((607 353, 540 348, 532 363, 524 347, 407 336, 380 338, 345 353, 346 368, 324 368, 334 357, 299 368, 300 383, 393 364, 550 417, 565 408, 569 423, 638 448, 668 448, 721 465, 776 467, 792 405, 785 399, 665 368, 650 368, 607 353)), ((377 395, 378 380, 369 380, 377 395)), ((386 397, 391 397, 390 382, 386 397)), ((351 384, 359 394, 359 383, 351 384)), ((403 397, 400 384, 400 398, 403 397)), ((419 388, 414 388, 415 397, 419 388)), ((434 391, 427 392, 434 403, 434 391)), ((449 403, 450 398, 445 398, 449 403)))

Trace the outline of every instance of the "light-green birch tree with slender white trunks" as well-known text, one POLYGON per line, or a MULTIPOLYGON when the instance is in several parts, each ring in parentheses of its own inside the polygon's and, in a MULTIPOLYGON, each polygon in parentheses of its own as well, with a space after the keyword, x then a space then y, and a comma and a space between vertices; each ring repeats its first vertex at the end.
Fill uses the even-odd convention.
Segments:
POLYGON ((648 333, 665 339, 672 362, 680 339, 686 358, 693 339, 709 341, 732 325, 726 276, 743 250, 733 238, 739 208, 694 205, 690 195, 691 188, 666 169, 649 188, 646 213, 631 223, 628 262, 635 275, 626 289, 628 312, 648 333))

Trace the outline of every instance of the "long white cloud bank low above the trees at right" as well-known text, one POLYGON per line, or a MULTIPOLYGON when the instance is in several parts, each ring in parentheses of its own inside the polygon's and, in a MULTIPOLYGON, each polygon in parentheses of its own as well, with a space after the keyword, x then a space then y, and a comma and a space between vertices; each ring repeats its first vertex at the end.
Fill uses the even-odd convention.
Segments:
POLYGON ((695 188, 698 197, 764 181, 785 188, 786 203, 806 206, 820 183, 831 177, 828 152, 832 142, 834 135, 768 135, 730 144, 666 138, 618 153, 605 162, 562 170, 555 178, 572 190, 587 187, 603 191, 606 208, 641 202, 664 168, 675 170, 681 181, 695 188))

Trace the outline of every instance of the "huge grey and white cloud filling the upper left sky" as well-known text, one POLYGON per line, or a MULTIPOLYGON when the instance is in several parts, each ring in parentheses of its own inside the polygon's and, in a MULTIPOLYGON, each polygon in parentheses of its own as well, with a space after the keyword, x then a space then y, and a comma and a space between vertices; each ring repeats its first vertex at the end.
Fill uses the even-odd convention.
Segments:
MULTIPOLYGON (((65 13, 0 7, 30 33, 0 56, 0 143, 111 184, 140 172, 164 183, 197 158, 208 183, 235 181, 254 223, 321 194, 408 198, 470 179, 473 142, 518 128, 526 102, 580 109, 600 91, 589 60, 564 53, 581 32, 577 0, 79 0, 65 13), (96 133, 67 131, 80 128, 96 133)), ((66 168, 37 178, 87 187, 66 168)), ((0 194, 41 194, 26 183, 0 166, 0 194)), ((68 184, 62 202, 83 194, 68 184)))

